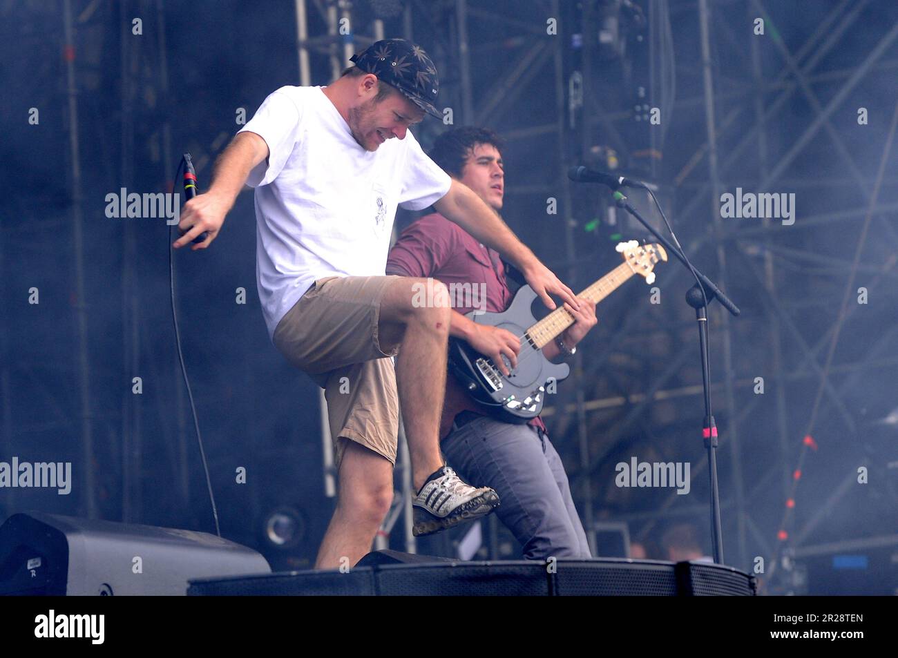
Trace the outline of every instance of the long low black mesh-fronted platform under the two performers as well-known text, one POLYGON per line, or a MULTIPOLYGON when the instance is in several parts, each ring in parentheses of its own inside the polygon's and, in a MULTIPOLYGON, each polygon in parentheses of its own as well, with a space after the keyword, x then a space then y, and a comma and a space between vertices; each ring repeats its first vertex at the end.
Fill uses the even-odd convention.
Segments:
POLYGON ((369 553, 347 573, 298 571, 249 577, 193 579, 189 596, 753 596, 751 575, 732 566, 597 558, 464 562, 369 553), (362 566, 362 563, 365 566, 362 566))

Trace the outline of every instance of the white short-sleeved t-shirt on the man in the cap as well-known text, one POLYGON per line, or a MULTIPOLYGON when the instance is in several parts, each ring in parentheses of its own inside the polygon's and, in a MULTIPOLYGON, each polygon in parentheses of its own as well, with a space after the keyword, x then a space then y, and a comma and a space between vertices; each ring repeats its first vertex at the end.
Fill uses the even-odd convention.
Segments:
POLYGON ((383 276, 396 206, 421 210, 452 184, 411 131, 365 151, 322 89, 281 87, 240 130, 269 145, 247 179, 269 338, 315 279, 383 276))

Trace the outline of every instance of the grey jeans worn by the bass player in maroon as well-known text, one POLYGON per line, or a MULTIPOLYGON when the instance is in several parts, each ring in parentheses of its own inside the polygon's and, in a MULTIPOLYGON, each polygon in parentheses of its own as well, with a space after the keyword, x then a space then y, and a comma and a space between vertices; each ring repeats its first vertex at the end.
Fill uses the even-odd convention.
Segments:
POLYGON ((529 425, 479 417, 453 425, 440 447, 468 484, 496 489, 496 514, 521 542, 524 559, 592 557, 568 475, 548 436, 529 425))

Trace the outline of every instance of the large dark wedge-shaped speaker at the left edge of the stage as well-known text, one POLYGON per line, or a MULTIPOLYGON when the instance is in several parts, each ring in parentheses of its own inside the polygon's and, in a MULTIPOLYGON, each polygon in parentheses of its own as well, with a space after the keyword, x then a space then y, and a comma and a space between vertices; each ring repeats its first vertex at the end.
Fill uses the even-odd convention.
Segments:
POLYGON ((256 551, 206 532, 40 512, 0 526, 0 594, 183 596, 189 578, 270 572, 256 551))

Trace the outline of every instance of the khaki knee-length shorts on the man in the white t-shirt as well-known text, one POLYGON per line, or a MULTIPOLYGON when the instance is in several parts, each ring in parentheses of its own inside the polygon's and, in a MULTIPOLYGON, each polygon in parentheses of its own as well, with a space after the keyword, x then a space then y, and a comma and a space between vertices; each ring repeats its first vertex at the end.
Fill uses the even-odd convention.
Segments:
POLYGON ((377 340, 381 300, 398 276, 326 276, 277 323, 273 341, 324 389, 334 461, 355 441, 396 464, 399 398, 392 359, 377 340))

